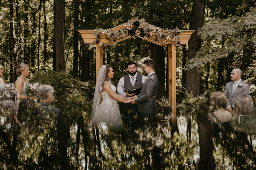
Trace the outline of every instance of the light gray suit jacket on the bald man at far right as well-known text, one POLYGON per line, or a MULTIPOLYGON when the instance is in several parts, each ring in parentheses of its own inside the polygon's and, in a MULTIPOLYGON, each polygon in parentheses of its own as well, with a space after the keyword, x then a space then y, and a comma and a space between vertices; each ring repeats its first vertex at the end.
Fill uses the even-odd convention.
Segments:
POLYGON ((231 105, 231 106, 236 103, 236 97, 239 94, 242 94, 242 93, 250 94, 250 86, 248 84, 244 83, 243 80, 240 81, 240 83, 242 83, 243 86, 241 86, 241 87, 237 86, 233 93, 233 83, 234 83, 234 81, 227 83, 225 90, 223 92, 223 94, 228 98, 227 104, 231 105))

